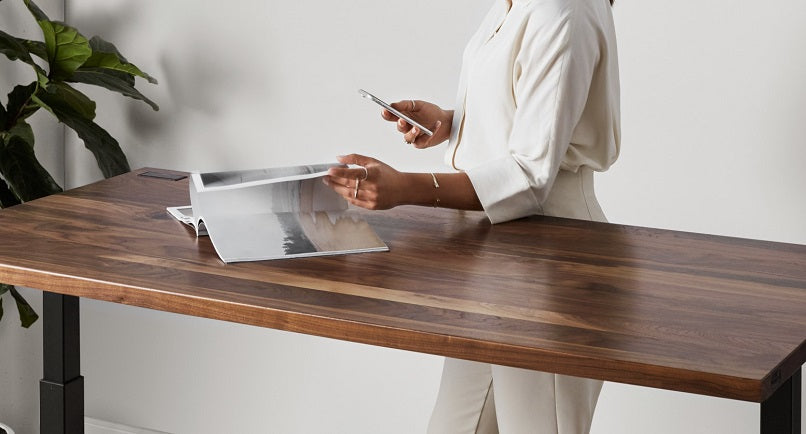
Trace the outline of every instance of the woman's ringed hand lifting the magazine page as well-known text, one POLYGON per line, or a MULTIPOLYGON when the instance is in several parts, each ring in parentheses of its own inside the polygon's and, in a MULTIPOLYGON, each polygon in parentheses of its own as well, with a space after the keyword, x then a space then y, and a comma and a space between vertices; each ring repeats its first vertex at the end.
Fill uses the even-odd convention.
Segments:
POLYGON ((406 175, 374 158, 358 154, 338 157, 339 163, 362 167, 332 167, 323 182, 348 202, 361 208, 380 210, 403 205, 406 175), (366 170, 365 170, 366 169, 366 170))

